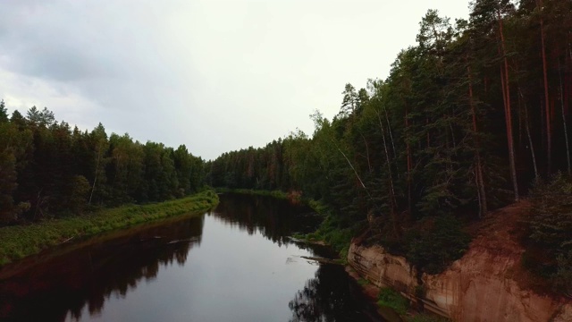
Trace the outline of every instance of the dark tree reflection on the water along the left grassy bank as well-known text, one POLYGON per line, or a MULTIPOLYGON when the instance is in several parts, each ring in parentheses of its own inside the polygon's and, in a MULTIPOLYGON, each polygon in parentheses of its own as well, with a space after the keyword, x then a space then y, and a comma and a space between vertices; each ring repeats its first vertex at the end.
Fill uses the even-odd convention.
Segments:
POLYGON ((99 313, 111 296, 124 297, 160 267, 183 265, 201 241, 203 216, 101 242, 0 281, 0 319, 79 319, 84 307, 99 313), (69 315, 68 315, 69 312, 69 315))

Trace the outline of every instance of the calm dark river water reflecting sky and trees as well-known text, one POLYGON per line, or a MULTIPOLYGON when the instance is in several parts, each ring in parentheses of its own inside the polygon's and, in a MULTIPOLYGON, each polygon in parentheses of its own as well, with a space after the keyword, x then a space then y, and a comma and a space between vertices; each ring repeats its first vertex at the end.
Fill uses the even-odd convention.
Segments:
POLYGON ((0 320, 381 320, 343 267, 301 258, 331 257, 331 250, 289 239, 319 220, 287 201, 221 195, 202 216, 4 267, 0 320))

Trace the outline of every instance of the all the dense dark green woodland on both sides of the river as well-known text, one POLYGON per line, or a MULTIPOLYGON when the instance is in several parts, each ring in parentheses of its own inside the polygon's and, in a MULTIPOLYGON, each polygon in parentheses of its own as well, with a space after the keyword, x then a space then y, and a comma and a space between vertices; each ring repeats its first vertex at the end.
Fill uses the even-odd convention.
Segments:
POLYGON ((390 75, 346 84, 339 114, 311 115, 312 135, 207 163, 185 146, 71 129, 46 108, 9 115, 2 103, 0 225, 177 198, 205 182, 296 191, 330 209, 333 230, 367 231, 437 272, 466 250, 463 224, 532 192, 525 242, 539 251, 527 262, 572 293, 572 2, 469 5, 467 21, 428 11, 390 75))

